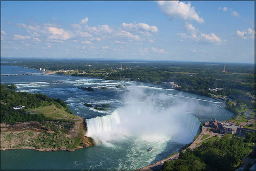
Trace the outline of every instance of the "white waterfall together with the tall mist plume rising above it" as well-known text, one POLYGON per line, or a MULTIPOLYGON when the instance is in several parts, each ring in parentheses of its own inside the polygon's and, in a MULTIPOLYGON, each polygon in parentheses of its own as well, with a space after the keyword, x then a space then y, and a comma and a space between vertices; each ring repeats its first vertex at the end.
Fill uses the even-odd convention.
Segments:
POLYGON ((166 100, 166 96, 148 96, 141 89, 132 87, 125 94, 123 107, 111 115, 87 120, 86 135, 96 142, 99 139, 104 142, 127 136, 144 137, 147 140, 169 137, 184 144, 191 142, 200 122, 187 114, 188 104, 159 107, 161 99, 166 100))

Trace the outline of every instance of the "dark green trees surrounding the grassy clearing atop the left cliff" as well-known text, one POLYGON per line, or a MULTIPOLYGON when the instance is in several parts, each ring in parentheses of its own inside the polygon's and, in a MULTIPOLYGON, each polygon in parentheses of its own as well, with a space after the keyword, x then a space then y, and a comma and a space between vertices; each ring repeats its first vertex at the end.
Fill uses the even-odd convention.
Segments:
POLYGON ((73 114, 72 111, 69 110, 66 103, 61 101, 59 98, 53 99, 39 93, 29 94, 27 92, 16 92, 9 89, 12 87, 13 85, 0 85, 1 123, 16 123, 26 121, 38 121, 42 123, 46 120, 53 120, 45 117, 43 114, 27 114, 24 109, 14 110, 13 107, 18 105, 23 105, 25 108, 37 108, 54 104, 57 108, 63 107, 65 111, 73 114))

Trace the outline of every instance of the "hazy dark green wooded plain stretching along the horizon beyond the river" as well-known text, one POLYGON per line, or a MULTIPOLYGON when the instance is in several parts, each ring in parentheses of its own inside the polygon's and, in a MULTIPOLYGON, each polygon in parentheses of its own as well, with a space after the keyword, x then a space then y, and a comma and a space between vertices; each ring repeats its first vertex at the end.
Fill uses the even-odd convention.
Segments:
MULTIPOLYGON (((6 60, 7 61, 7 60, 6 60)), ((9 59, 9 61, 14 61, 9 59)), ((111 80, 131 80, 161 84, 175 82, 180 87, 177 90, 209 96, 231 95, 233 93, 255 94, 254 64, 226 64, 222 73, 223 63, 203 62, 159 62, 159 61, 111 61, 111 60, 39 60, 15 59, 15 63, 5 65, 40 67, 47 70, 75 70, 73 76, 99 77, 111 80), (39 61, 39 62, 38 62, 39 61), (121 63, 124 70, 121 70, 121 63), (79 74, 79 73, 86 74, 79 74), (209 88, 224 88, 213 92, 209 88)))

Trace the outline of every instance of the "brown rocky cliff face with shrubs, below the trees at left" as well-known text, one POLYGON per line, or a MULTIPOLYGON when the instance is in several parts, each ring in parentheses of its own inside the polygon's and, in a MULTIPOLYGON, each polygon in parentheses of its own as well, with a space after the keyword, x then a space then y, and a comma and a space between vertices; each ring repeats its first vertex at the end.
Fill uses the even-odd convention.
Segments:
POLYGON ((84 119, 61 123, 1 123, 1 150, 33 149, 37 151, 74 151, 94 145, 86 133, 84 119))

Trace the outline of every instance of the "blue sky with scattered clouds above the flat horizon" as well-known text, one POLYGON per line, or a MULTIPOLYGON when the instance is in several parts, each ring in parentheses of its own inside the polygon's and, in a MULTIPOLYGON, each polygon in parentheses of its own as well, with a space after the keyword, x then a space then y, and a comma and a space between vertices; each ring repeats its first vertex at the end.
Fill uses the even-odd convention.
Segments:
POLYGON ((254 63, 254 1, 2 1, 1 56, 254 63))

